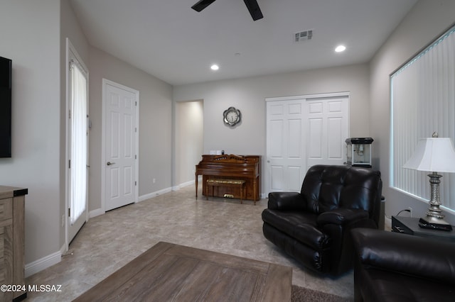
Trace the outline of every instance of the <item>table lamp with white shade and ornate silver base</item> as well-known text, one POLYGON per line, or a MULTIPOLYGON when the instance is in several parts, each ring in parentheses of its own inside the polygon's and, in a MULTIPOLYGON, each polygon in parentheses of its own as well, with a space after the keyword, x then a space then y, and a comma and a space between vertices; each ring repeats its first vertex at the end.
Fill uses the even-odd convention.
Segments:
POLYGON ((442 175, 438 172, 455 172, 455 150, 450 138, 438 138, 433 133, 432 138, 419 140, 412 157, 403 166, 405 169, 432 172, 428 174, 432 196, 429 201, 427 216, 419 219, 421 228, 434 230, 451 230, 452 227, 444 220, 439 205, 439 184, 442 175))

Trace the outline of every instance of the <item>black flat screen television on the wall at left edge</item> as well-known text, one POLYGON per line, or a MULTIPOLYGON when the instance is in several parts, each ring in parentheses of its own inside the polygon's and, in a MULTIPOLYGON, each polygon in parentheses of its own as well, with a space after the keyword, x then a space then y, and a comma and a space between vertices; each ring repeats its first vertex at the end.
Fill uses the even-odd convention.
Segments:
POLYGON ((11 60, 0 57, 0 157, 11 157, 11 60))

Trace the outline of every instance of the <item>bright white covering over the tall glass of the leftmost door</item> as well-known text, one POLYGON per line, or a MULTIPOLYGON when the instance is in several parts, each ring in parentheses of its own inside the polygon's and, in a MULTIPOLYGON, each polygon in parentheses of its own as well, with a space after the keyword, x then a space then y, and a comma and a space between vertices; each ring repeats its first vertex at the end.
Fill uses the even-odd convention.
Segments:
POLYGON ((70 222, 85 210, 87 198, 87 77, 75 62, 70 67, 71 168, 70 222))

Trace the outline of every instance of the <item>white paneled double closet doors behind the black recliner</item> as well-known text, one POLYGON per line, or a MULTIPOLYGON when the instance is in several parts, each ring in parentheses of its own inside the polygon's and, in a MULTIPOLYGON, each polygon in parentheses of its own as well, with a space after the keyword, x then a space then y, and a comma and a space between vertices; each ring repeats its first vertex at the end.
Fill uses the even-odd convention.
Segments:
POLYGON ((267 191, 300 191, 314 164, 343 164, 348 94, 267 99, 267 191))

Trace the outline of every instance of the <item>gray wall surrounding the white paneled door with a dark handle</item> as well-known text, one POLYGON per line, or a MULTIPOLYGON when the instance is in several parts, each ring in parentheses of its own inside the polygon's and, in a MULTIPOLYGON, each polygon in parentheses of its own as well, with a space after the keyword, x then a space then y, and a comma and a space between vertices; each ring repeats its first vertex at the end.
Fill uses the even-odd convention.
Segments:
POLYGON ((139 91, 139 197, 170 189, 172 86, 95 47, 90 47, 88 68, 92 121, 89 211, 101 208, 103 78, 139 91))

